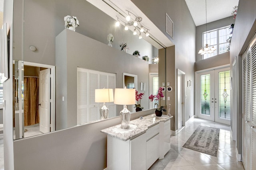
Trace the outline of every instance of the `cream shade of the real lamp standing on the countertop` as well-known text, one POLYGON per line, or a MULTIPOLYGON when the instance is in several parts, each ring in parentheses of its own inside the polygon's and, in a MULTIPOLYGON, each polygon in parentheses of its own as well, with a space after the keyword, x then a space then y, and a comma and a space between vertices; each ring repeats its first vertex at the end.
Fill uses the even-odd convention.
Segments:
POLYGON ((116 88, 114 104, 131 105, 135 104, 135 89, 116 88))

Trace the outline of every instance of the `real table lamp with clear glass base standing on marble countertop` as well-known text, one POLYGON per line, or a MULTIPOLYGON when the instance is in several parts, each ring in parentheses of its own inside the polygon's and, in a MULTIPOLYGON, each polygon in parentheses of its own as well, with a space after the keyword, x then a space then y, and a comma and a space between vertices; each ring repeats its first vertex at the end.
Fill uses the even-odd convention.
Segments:
POLYGON ((135 104, 135 101, 135 89, 128 89, 126 87, 115 89, 114 104, 124 105, 124 109, 120 111, 122 129, 130 128, 131 112, 127 109, 126 105, 135 104))

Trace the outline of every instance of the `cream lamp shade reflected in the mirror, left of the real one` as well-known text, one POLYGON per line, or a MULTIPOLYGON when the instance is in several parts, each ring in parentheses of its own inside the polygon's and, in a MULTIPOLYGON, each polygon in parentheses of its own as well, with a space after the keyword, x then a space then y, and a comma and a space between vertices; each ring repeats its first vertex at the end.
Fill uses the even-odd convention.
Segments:
POLYGON ((99 102, 99 103, 114 102, 113 89, 112 88, 95 89, 95 102, 99 102))

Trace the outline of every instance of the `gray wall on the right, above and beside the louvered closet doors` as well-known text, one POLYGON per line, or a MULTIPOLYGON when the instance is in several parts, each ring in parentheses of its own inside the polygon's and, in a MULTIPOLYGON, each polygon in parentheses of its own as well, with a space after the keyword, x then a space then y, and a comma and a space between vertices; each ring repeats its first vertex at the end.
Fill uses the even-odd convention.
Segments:
POLYGON ((235 26, 233 30, 230 45, 230 63, 237 58, 237 73, 233 74, 231 65, 231 76, 238 75, 236 79, 236 94, 231 91, 232 112, 237 115, 237 137, 236 147, 239 154, 242 154, 242 60, 241 55, 250 42, 250 39, 256 31, 256 1, 255 0, 239 0, 238 12, 236 16, 235 26), (235 98, 235 95, 237 97, 235 98))

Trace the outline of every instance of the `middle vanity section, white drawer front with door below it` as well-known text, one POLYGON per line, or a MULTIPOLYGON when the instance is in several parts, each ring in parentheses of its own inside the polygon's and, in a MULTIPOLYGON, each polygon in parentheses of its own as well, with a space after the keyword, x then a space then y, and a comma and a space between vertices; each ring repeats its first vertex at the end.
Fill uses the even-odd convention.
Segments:
POLYGON ((146 169, 159 158, 159 124, 148 128, 146 142, 146 169))

